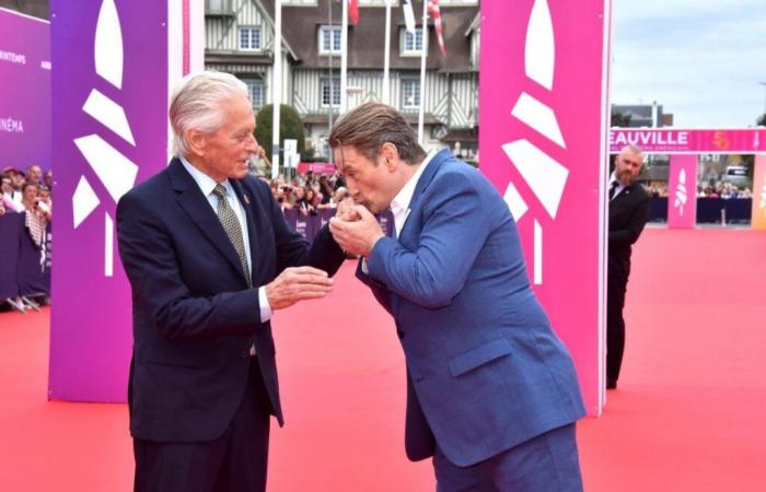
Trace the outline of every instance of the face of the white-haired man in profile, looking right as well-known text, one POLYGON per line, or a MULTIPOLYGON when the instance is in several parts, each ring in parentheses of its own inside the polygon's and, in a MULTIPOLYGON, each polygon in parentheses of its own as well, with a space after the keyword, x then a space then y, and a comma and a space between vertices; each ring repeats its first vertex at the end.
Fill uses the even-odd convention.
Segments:
POLYGON ((255 115, 249 101, 236 95, 223 103, 223 125, 205 137, 201 160, 205 169, 217 181, 242 179, 247 174, 249 156, 258 151, 255 140, 255 115))

